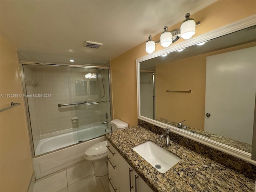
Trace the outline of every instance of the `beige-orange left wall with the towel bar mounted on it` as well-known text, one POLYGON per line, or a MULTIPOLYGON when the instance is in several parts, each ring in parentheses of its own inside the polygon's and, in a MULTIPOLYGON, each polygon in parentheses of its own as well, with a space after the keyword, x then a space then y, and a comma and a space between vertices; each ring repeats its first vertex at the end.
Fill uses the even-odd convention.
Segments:
MULTIPOLYGON (((16 50, 0 38, 0 94, 22 94, 16 50)), ((1 97, 0 108, 21 105, 0 113, 0 191, 26 192, 33 174, 22 97, 1 97)))

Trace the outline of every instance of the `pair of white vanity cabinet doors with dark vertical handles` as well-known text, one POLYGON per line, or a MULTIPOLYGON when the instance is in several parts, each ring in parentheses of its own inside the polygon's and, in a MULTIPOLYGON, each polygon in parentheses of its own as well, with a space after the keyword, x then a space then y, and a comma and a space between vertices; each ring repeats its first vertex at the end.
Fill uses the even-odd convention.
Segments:
POLYGON ((153 192, 120 154, 118 154, 118 167, 120 192, 153 192))

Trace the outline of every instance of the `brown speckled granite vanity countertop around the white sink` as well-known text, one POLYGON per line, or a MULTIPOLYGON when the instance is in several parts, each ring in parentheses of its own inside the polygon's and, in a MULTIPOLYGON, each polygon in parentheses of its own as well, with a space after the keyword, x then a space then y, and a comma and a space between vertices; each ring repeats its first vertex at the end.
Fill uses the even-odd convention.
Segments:
POLYGON ((254 192, 255 181, 158 134, 133 126, 106 134, 108 141, 155 192, 254 192), (132 148, 152 141, 182 160, 162 174, 132 148))

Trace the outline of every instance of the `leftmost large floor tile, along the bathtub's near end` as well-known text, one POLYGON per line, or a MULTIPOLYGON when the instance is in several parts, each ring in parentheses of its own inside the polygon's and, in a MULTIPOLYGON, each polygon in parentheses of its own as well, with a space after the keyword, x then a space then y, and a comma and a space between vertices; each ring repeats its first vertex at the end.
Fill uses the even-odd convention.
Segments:
POLYGON ((33 192, 57 192, 67 187, 66 169, 36 180, 33 192))

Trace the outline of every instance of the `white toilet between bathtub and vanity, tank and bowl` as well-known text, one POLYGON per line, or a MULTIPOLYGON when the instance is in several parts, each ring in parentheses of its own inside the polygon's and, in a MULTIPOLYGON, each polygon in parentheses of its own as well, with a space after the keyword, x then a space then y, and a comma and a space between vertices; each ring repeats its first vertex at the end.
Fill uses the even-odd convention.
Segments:
MULTIPOLYGON (((114 119, 110 122, 112 132, 128 128, 128 123, 123 122, 120 119, 114 119)), ((94 175, 96 177, 102 177, 108 174, 108 149, 107 141, 102 141, 90 146, 84 152, 84 158, 88 161, 92 161, 94 164, 94 175)))

